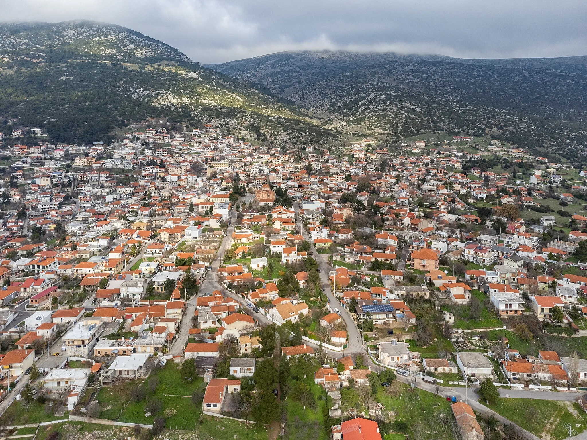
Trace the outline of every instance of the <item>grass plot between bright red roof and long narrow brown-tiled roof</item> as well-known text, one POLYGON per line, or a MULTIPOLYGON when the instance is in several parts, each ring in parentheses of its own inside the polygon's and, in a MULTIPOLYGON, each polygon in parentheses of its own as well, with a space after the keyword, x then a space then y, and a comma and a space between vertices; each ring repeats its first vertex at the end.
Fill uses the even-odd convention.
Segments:
POLYGON ((454 439, 450 402, 443 397, 394 382, 377 393, 377 401, 387 411, 395 411, 396 420, 406 422, 410 438, 454 439))

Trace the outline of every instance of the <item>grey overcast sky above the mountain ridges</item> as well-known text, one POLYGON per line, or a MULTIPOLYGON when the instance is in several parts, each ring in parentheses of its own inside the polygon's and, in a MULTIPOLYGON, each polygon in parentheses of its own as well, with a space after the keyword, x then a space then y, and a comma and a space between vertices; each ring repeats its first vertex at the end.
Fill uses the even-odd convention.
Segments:
POLYGON ((0 0, 2 21, 116 23, 221 63, 300 49, 587 55, 585 0, 0 0))

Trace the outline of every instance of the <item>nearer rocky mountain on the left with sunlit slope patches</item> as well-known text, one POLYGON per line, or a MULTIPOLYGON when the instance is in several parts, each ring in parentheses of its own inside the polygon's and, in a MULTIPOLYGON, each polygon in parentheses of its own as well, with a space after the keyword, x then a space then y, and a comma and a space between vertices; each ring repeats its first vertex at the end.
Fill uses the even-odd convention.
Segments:
POLYGON ((163 116, 277 145, 337 136, 262 87, 139 32, 89 21, 0 24, 0 116, 63 143, 110 140, 117 128, 163 116))

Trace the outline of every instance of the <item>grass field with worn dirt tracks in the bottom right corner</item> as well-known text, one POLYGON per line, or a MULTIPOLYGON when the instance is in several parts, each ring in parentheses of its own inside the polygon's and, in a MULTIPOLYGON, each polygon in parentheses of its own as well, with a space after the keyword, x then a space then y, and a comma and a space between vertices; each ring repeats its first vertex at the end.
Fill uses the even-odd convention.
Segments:
POLYGON ((543 438, 542 434, 549 434, 552 440, 567 438, 565 424, 571 424, 577 433, 587 428, 587 414, 575 402, 501 398, 487 406, 539 438, 543 438))

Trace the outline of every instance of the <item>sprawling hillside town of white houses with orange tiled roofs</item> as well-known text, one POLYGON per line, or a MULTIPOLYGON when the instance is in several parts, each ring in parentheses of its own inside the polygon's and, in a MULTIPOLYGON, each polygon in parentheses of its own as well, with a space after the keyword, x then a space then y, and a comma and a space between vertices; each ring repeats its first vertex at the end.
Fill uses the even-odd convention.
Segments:
POLYGON ((6 436, 587 428, 587 171, 489 137, 277 148, 161 118, 64 145, 8 122, 6 436))

